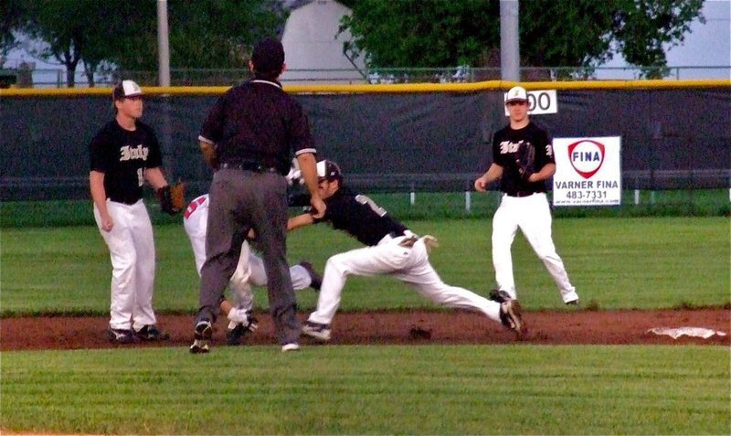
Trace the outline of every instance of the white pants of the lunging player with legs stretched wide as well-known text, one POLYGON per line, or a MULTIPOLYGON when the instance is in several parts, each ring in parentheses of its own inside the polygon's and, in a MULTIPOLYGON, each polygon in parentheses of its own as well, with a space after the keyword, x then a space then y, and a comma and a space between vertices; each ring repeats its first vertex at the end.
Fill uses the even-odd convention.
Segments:
POLYGON ((429 263, 424 239, 418 239, 410 248, 398 245, 405 238, 386 236, 376 246, 345 251, 328 259, 317 310, 310 314, 309 321, 318 324, 332 323, 348 275, 388 274, 414 286, 418 293, 434 303, 482 312, 500 322, 499 303, 442 282, 429 263))

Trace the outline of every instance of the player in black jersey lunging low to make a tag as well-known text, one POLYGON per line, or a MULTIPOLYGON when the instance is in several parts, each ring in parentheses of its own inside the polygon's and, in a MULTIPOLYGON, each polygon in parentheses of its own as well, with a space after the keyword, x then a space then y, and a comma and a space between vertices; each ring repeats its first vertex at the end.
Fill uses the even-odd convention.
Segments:
POLYGON ((366 247, 335 254, 327 260, 317 310, 302 325, 302 334, 321 341, 330 340, 331 324, 348 275, 388 274, 414 286, 434 303, 482 312, 514 330, 518 338, 524 335, 525 325, 517 300, 506 297, 503 303, 497 303, 442 282, 429 263, 428 246, 435 245, 436 239, 419 238, 373 200, 343 186, 343 175, 334 162, 318 162, 317 175, 320 197, 326 206, 323 218, 305 213, 290 218, 288 229, 328 222, 366 247))

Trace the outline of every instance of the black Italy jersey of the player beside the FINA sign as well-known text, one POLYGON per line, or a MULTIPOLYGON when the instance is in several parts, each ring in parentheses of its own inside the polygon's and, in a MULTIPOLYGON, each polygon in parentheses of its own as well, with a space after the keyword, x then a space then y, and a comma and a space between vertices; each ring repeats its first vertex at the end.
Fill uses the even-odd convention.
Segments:
POLYGON ((546 164, 555 164, 553 140, 546 129, 528 122, 522 129, 514 130, 507 125, 493 136, 493 162, 503 167, 500 190, 508 195, 517 193, 546 192, 546 184, 541 182, 527 183, 521 180, 518 166, 515 164, 515 152, 521 143, 535 148, 535 172, 546 164))

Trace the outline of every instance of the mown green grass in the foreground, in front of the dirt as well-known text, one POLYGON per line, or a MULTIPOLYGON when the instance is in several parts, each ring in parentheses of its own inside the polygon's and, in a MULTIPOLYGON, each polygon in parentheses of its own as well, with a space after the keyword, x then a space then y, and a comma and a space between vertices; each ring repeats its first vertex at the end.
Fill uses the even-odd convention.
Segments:
POLYGON ((0 427, 86 434, 728 434, 728 350, 4 353, 0 427), (12 412, 9 412, 12 410, 12 412))

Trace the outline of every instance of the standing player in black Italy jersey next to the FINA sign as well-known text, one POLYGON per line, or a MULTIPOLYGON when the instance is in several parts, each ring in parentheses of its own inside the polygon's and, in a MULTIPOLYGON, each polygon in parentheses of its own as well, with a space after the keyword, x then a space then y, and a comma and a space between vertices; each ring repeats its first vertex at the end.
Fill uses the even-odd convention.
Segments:
MULTIPOLYGON (((509 90, 505 105, 510 122, 493 136, 493 165, 474 181, 475 189, 484 192, 500 179, 503 192, 493 217, 493 265, 498 290, 515 298, 510 248, 515 233, 521 229, 556 282, 564 303, 578 304, 576 289, 568 280, 564 262, 551 238, 551 211, 545 182, 556 173, 552 139, 546 129, 529 120, 528 94, 524 88, 516 86, 509 90), (524 151, 535 155, 533 162, 521 161, 524 151)), ((496 299, 499 301, 500 297, 496 299)))

